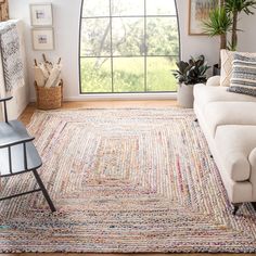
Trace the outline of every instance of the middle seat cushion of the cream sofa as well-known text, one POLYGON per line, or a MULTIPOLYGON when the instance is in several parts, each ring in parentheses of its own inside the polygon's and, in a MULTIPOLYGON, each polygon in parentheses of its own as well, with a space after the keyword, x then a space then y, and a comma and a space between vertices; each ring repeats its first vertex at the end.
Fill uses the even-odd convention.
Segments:
POLYGON ((254 125, 256 126, 256 102, 210 102, 203 115, 207 120, 210 136, 215 137, 221 125, 254 125))

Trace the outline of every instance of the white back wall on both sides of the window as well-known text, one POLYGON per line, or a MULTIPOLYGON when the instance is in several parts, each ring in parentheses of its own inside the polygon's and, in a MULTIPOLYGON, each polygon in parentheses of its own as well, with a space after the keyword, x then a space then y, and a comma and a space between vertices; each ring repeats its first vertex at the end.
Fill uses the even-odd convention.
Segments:
MULTIPOLYGON (((55 50, 48 53, 50 59, 63 59, 64 97, 67 100, 82 100, 79 95, 78 73, 78 36, 81 0, 9 0, 10 16, 22 18, 26 24, 27 66, 30 84, 30 99, 35 100, 33 61, 40 59, 41 52, 33 51, 30 37, 29 3, 52 2, 55 30, 55 50)), ((177 0, 180 35, 181 57, 188 60, 191 55, 204 54, 212 65, 218 62, 218 38, 207 36, 188 36, 189 0, 177 0)), ((252 24, 256 22, 256 15, 243 18, 242 28, 246 31, 240 36, 239 49, 256 52, 256 37, 252 24)))

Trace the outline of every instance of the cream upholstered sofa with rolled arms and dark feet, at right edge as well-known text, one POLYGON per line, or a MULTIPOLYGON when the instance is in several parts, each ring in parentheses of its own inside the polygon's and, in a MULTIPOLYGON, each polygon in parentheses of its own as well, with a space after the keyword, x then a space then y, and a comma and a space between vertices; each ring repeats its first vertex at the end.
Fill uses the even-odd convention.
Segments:
POLYGON ((194 112, 235 214, 256 202, 256 98, 228 92, 214 77, 195 85, 194 112))

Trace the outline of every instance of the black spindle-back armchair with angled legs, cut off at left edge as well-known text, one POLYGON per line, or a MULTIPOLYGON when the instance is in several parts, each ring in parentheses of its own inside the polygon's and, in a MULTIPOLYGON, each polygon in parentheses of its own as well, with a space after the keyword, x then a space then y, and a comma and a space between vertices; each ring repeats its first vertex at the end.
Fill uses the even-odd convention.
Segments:
POLYGON ((39 189, 1 197, 0 201, 41 191, 53 213, 56 209, 37 171, 42 162, 31 142, 35 138, 28 135, 21 121, 8 119, 7 101, 11 99, 12 97, 0 99, 4 111, 4 121, 0 121, 0 177, 11 177, 31 171, 39 189))

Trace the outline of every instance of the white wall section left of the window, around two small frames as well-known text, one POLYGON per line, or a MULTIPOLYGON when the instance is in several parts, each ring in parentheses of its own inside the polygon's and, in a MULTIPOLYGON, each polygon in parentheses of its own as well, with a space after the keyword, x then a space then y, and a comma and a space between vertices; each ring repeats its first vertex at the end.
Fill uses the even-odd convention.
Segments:
POLYGON ((40 60, 42 52, 33 50, 29 3, 41 2, 53 3, 55 50, 47 52, 47 56, 51 60, 57 60, 59 56, 62 57, 65 98, 77 99, 79 97, 78 35, 80 0, 9 0, 10 17, 22 18, 26 25, 25 38, 30 99, 35 100, 34 59, 40 60))

